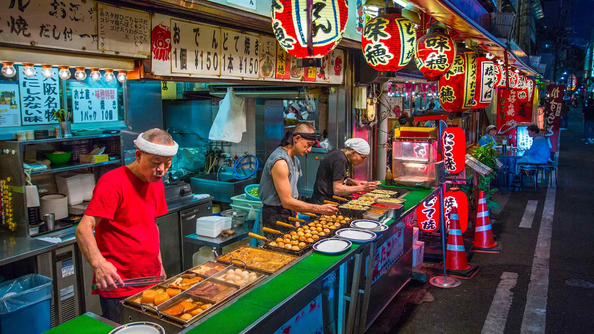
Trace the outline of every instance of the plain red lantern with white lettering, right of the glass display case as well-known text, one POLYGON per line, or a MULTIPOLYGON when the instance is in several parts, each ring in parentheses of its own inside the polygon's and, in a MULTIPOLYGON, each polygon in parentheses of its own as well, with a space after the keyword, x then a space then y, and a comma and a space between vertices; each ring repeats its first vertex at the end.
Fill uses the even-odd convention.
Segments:
POLYGON ((462 172, 466 165, 466 136, 457 125, 449 126, 441 136, 444 168, 451 174, 462 172))

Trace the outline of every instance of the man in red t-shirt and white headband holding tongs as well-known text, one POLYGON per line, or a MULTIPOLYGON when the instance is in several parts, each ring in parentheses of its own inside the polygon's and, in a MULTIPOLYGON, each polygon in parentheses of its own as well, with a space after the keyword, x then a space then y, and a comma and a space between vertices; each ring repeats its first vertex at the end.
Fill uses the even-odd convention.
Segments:
POLYGON ((126 287, 122 280, 166 276, 155 218, 168 212, 161 178, 178 144, 159 129, 141 133, 134 144, 135 162, 97 181, 76 229, 78 247, 93 266, 103 317, 116 323, 120 323, 119 301, 147 288, 126 287))

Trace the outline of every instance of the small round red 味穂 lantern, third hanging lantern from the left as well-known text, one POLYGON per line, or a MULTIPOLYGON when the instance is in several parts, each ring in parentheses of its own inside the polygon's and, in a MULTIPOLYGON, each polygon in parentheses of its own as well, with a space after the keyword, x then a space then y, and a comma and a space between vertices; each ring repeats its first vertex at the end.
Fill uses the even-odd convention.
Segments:
POLYGON ((430 28, 416 42, 415 64, 427 81, 440 80, 456 57, 456 43, 443 28, 430 28))

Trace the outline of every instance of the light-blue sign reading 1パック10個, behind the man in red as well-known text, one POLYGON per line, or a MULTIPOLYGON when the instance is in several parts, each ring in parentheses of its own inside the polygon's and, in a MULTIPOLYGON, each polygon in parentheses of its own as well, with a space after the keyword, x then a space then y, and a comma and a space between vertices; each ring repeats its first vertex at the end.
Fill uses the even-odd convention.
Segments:
POLYGON ((118 90, 72 88, 72 118, 75 123, 118 120, 118 90))

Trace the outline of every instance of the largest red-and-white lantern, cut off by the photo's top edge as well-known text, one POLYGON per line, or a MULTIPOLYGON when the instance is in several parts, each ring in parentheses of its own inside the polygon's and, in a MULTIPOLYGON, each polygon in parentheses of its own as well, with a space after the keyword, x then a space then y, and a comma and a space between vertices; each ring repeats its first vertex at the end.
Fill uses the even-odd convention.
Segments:
POLYGON ((279 45, 297 58, 323 58, 345 34, 349 17, 346 0, 313 0, 312 54, 308 52, 307 1, 272 0, 272 30, 279 45))

